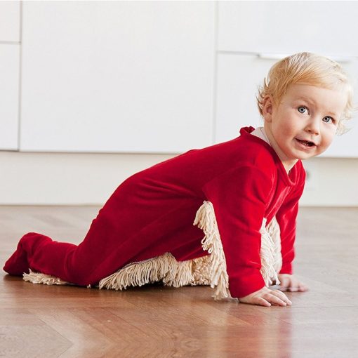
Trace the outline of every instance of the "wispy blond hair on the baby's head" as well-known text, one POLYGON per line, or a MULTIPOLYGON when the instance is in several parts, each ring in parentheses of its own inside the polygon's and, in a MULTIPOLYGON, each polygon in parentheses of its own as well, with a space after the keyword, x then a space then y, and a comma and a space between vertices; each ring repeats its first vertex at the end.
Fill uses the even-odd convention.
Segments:
POLYGON ((353 88, 338 62, 309 52, 295 53, 276 62, 258 88, 256 96, 258 110, 263 115, 263 100, 271 95, 274 104, 278 104, 291 84, 308 84, 329 89, 341 89, 347 92, 347 105, 343 118, 338 124, 338 134, 345 133, 343 121, 352 118, 353 88))

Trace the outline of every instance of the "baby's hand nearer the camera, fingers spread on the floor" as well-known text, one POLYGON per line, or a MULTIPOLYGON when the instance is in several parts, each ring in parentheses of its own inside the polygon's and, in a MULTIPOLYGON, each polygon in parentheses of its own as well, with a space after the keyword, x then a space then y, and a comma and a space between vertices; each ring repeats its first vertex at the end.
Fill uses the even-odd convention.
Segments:
POLYGON ((263 287, 262 289, 250 293, 248 296, 244 296, 239 298, 240 302, 250 303, 251 305, 260 305, 269 307, 271 304, 286 306, 292 305, 289 298, 286 295, 278 290, 270 290, 267 287, 263 287))

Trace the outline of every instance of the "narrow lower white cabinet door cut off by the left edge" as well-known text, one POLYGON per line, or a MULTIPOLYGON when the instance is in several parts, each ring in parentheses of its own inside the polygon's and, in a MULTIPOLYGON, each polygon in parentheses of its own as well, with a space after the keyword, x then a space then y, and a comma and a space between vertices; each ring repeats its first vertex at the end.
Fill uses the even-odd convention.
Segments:
POLYGON ((18 150, 19 46, 0 44, 0 150, 18 150))

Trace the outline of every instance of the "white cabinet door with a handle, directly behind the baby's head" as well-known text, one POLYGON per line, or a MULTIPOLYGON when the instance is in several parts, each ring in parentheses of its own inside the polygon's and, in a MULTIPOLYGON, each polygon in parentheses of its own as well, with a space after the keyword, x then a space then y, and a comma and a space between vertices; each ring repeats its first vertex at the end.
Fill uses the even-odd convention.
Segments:
MULTIPOLYGON (((256 105, 258 86, 277 59, 263 59, 256 55, 218 55, 218 93, 216 102, 216 142, 230 140, 239 135, 242 126, 263 126, 256 105)), ((342 63, 347 74, 358 77, 358 62, 352 59, 342 63)), ((355 93, 358 88, 356 86, 355 93)), ((354 102, 357 103, 355 95, 354 102)), ((358 125, 352 119, 352 130, 337 136, 321 157, 358 157, 358 125)))

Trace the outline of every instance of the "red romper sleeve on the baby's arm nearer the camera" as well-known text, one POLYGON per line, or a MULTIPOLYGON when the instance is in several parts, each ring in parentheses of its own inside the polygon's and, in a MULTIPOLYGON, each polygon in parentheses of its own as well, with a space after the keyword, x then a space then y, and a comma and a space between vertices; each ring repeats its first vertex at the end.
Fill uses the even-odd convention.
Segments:
POLYGON ((265 286, 260 273, 260 228, 272 191, 270 174, 244 166, 227 171, 204 185, 213 204, 234 298, 265 286))

